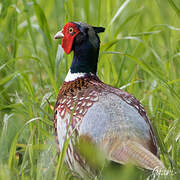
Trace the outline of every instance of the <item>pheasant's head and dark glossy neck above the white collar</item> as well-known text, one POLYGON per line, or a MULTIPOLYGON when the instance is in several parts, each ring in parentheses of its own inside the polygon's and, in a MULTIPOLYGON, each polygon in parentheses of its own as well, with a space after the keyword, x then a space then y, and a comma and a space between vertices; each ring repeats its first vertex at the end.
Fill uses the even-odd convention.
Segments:
POLYGON ((98 33, 103 27, 93 27, 86 23, 68 22, 55 39, 62 39, 62 48, 66 54, 74 51, 71 73, 96 74, 100 40, 98 33))

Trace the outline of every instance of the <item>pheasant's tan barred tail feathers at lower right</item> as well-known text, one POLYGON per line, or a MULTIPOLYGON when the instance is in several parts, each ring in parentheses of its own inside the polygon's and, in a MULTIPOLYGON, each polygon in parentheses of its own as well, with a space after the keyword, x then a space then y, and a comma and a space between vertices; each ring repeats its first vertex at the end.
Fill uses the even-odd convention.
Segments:
POLYGON ((145 169, 164 169, 163 163, 141 144, 128 140, 111 144, 109 159, 121 164, 132 163, 145 169))

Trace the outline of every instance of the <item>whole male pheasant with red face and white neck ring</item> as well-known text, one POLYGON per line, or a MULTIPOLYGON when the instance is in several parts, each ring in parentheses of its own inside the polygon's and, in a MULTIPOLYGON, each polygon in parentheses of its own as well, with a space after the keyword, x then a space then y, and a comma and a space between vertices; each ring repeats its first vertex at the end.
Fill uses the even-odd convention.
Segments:
POLYGON ((132 95, 103 83, 96 75, 103 27, 69 22, 55 39, 62 39, 66 54, 74 51, 70 70, 54 108, 54 128, 60 151, 71 136, 65 162, 81 176, 90 171, 76 150, 82 137, 98 147, 105 158, 153 170, 164 168, 150 120, 132 95))

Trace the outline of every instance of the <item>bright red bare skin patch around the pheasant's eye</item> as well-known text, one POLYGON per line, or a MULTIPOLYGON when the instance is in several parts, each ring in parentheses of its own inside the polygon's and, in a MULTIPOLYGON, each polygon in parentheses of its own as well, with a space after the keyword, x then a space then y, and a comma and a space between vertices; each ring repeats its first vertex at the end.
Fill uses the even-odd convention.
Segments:
POLYGON ((64 49, 66 54, 69 54, 72 50, 72 45, 74 42, 74 38, 77 34, 80 33, 80 30, 77 28, 77 26, 73 23, 67 23, 62 33, 64 34, 64 37, 62 39, 62 48, 64 49))

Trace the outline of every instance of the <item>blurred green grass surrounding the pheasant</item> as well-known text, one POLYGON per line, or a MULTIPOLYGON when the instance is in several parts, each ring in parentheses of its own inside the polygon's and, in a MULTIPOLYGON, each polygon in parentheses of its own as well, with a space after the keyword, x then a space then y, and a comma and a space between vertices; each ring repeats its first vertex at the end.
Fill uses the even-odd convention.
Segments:
MULTIPOLYGON (((106 27, 98 75, 141 101, 162 161, 179 173, 179 0, 1 0, 0 179, 76 179, 58 161, 46 101, 54 105, 71 64, 53 40, 68 21, 106 27)), ((129 167, 104 171, 104 179, 145 178, 129 167)))

